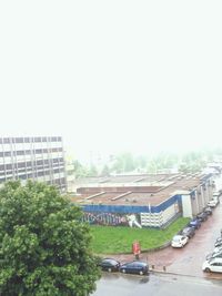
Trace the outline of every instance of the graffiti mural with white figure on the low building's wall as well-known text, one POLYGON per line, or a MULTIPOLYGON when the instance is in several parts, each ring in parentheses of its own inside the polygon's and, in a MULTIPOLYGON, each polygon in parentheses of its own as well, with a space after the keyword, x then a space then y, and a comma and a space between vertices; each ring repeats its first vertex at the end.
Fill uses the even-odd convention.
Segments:
POLYGON ((118 213, 83 213, 83 222, 95 225, 110 225, 110 226, 130 226, 142 227, 140 216, 138 214, 118 214, 118 213))

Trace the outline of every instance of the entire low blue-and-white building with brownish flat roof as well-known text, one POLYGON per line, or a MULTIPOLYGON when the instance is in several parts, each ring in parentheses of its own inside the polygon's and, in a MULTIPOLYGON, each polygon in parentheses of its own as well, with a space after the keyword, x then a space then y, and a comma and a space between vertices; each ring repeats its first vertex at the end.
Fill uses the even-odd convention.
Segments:
POLYGON ((202 173, 91 177, 75 181, 72 202, 90 224, 163 228, 180 215, 201 213, 213 184, 213 175, 202 173))

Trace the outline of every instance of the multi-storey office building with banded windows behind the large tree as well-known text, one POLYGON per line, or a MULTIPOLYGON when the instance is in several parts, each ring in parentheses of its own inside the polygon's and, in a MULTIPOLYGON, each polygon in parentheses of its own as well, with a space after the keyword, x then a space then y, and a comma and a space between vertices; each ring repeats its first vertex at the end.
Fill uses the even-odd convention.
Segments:
POLYGON ((67 190, 61 136, 0 137, 0 184, 28 178, 67 190))

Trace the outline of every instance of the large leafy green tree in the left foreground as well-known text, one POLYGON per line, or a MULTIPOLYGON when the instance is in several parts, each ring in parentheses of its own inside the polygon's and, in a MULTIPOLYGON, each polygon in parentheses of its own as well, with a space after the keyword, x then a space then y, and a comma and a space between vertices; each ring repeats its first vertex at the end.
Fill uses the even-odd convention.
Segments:
POLYGON ((89 295, 100 273, 82 212, 54 186, 0 190, 0 295, 89 295))

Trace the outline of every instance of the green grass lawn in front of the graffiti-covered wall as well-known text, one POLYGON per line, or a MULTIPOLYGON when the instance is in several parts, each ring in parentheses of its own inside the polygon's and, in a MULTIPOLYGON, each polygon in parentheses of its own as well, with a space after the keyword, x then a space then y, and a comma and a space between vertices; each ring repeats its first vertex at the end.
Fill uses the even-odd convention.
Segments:
POLYGON ((189 221, 190 218, 180 217, 165 229, 90 226, 92 249, 95 254, 129 253, 134 241, 140 242, 141 249, 159 247, 169 242, 189 221))

